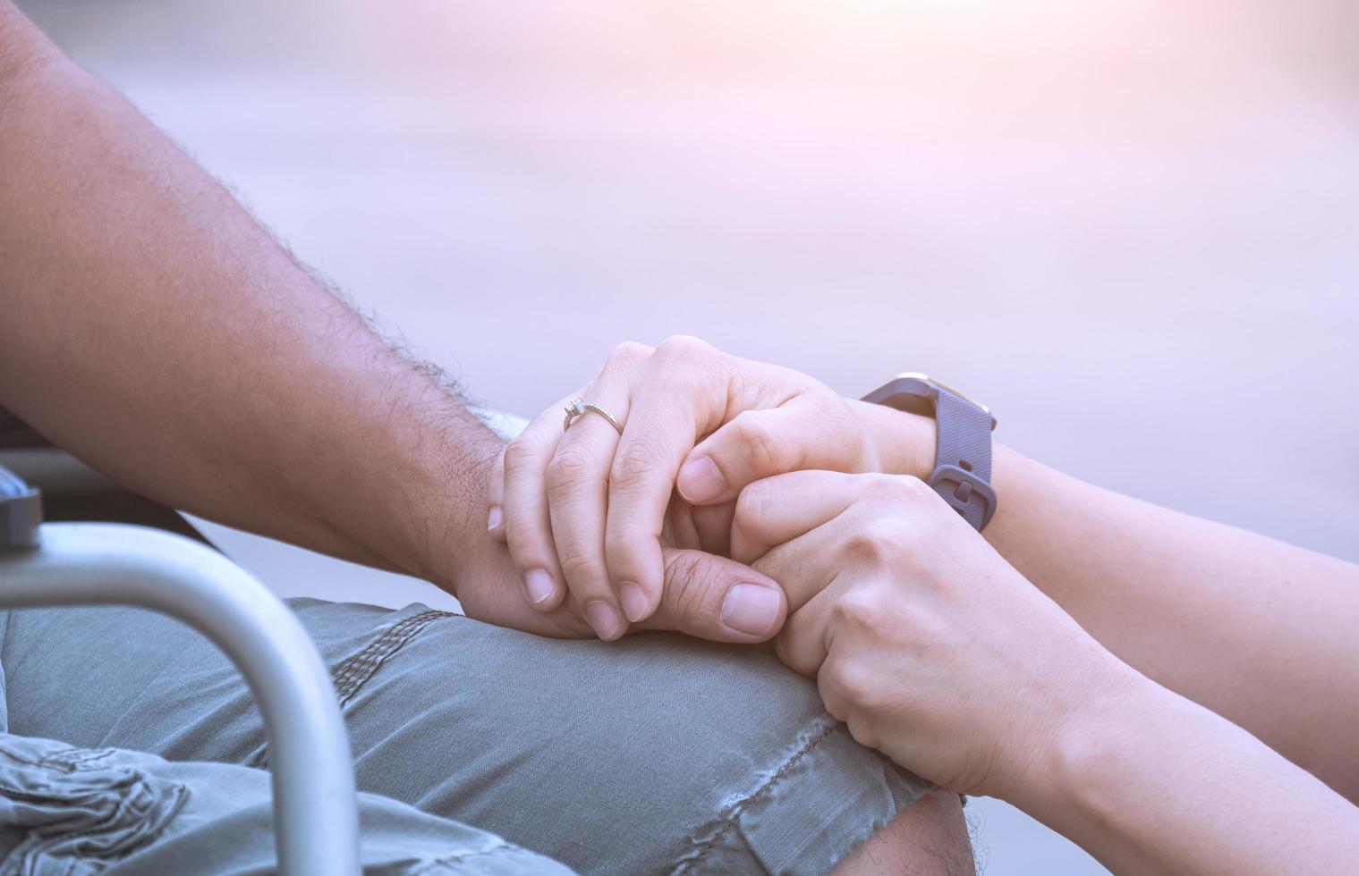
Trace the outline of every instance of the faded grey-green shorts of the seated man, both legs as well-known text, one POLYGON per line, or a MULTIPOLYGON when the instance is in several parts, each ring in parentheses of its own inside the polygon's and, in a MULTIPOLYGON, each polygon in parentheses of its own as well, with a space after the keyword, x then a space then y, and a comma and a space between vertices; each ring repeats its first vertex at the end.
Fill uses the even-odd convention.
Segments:
MULTIPOLYGON (((49 516, 197 535, 169 509, 114 498, 49 516)), ((372 872, 825 873, 928 790, 855 743, 768 648, 291 604, 334 679, 372 872)), ((137 608, 0 611, 0 876, 269 871, 264 729, 200 634, 137 608), (147 777, 114 782, 130 809, 163 818, 118 827, 63 811, 109 805, 101 775, 120 770, 147 777), (34 796, 76 780, 98 780, 92 796, 34 796), (166 805, 175 786, 190 801, 179 809, 166 805), (15 856, 34 837, 57 854, 42 866, 15 856)))

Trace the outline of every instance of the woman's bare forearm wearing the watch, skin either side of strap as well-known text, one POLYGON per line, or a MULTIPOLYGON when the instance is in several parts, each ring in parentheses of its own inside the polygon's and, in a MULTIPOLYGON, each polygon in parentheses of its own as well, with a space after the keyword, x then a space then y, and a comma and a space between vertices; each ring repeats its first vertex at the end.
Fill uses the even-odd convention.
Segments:
MULTIPOLYGON (((887 470, 934 422, 859 406, 887 470)), ((1359 799, 1359 566, 1083 483, 998 444, 987 541, 1101 644, 1359 799)))

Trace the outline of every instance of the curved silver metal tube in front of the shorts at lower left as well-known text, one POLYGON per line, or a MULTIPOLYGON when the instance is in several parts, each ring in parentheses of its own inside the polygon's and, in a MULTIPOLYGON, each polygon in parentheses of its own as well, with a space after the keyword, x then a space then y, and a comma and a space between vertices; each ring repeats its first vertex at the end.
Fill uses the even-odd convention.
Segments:
POLYGON ((0 607, 58 604, 151 608, 222 648, 264 716, 279 869, 357 876, 349 737, 330 674, 287 606, 190 539, 133 526, 48 523, 37 547, 0 551, 0 607))

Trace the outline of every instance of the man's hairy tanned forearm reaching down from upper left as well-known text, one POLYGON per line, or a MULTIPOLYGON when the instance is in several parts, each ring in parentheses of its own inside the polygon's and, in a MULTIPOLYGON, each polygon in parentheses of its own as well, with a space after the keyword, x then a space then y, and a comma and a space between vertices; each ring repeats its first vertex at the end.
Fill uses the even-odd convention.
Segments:
POLYGON ((451 583, 496 437, 0 5, 0 403, 126 486, 451 583))

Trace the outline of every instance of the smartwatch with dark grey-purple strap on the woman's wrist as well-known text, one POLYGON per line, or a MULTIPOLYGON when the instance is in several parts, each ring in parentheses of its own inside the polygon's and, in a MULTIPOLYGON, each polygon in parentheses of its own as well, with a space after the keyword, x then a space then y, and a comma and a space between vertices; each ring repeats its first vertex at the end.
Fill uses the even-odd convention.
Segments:
POLYGON ((980 532, 996 512, 996 492, 991 489, 996 418, 991 409, 923 373, 898 375, 860 401, 934 417, 935 467, 927 482, 980 532))

